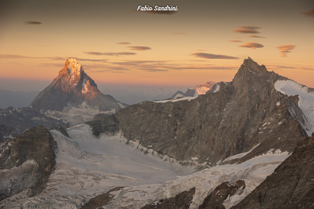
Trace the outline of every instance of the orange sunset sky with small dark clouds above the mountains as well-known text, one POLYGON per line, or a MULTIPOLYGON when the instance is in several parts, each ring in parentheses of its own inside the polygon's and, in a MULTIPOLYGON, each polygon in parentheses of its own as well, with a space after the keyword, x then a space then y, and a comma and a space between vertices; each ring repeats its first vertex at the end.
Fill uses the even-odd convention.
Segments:
POLYGON ((0 89, 43 90, 74 57, 104 89, 185 90, 231 81, 248 56, 314 88, 313 34, 313 0, 2 0, 0 89))

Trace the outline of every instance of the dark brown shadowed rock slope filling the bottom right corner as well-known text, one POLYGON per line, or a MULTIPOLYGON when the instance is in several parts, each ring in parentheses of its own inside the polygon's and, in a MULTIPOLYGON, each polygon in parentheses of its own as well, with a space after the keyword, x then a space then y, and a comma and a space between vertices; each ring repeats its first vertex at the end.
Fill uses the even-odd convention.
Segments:
POLYGON ((236 208, 313 208, 314 133, 236 208))

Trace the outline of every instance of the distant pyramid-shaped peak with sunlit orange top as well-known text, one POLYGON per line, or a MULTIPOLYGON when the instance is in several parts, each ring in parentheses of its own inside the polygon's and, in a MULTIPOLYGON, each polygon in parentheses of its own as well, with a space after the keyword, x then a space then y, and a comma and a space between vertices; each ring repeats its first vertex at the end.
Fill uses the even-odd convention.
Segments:
POLYGON ((57 78, 47 86, 31 103, 41 110, 63 111, 68 107, 84 107, 101 111, 120 110, 117 101, 110 95, 102 94, 93 79, 78 64, 76 59, 69 58, 59 71, 57 78))

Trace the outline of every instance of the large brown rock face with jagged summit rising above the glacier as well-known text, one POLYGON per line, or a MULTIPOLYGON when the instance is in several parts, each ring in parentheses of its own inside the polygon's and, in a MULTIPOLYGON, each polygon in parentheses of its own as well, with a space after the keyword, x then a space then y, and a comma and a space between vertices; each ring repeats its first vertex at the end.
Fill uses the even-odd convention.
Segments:
POLYGON ((278 80, 287 78, 248 58, 218 91, 191 101, 142 102, 87 123, 96 136, 120 133, 162 155, 211 166, 258 144, 245 158, 279 149, 292 152, 295 142, 307 136, 299 124, 303 114, 297 95, 274 88, 278 80))

